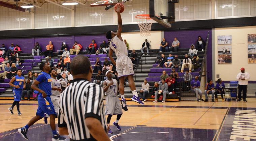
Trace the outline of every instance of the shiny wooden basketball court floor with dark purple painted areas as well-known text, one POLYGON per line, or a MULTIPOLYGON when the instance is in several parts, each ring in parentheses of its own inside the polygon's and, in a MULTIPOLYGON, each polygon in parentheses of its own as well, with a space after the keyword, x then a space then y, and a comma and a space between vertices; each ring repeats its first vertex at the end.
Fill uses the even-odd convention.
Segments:
MULTIPOLYGON (((122 130, 118 131, 113 122, 116 116, 112 116, 110 129, 113 134, 111 140, 243 140, 247 137, 256 140, 256 123, 237 123, 236 116, 251 115, 251 121, 256 121, 256 98, 247 98, 248 102, 145 102, 139 105, 127 101, 128 111, 123 111, 119 121, 122 130), (252 124, 254 123, 254 124, 252 124), (243 134, 233 130, 241 130, 243 134), (242 131, 243 130, 243 131, 242 131), (248 132, 248 134, 247 134, 248 132), (248 135, 248 136, 247 136, 248 135)), ((11 115, 8 108, 13 100, 0 100, 0 140, 23 141, 17 133, 17 129, 23 127, 35 116, 37 101, 21 101, 21 116, 17 115, 16 106, 11 115)), ((245 118, 245 117, 244 117, 245 118)), ((248 119, 248 117, 246 118, 248 119)), ((246 121, 242 119, 242 121, 246 121)), ((238 120, 239 121, 239 120, 238 120)), ((241 120, 240 120, 241 121, 241 120)), ((57 119, 56 119, 57 124, 57 119)), ((43 120, 33 125, 28 132, 29 140, 50 141, 52 133, 50 125, 43 120)), ((68 140, 68 139, 67 139, 68 140)))

